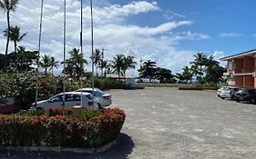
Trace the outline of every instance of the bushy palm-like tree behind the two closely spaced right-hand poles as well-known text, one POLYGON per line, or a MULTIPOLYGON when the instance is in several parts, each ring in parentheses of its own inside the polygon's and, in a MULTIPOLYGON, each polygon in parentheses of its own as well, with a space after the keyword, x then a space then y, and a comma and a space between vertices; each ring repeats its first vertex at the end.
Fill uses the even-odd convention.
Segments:
POLYGON ((77 48, 73 48, 68 54, 70 57, 66 61, 67 66, 64 72, 78 80, 84 74, 84 65, 87 64, 87 60, 84 59, 83 54, 79 53, 77 48))

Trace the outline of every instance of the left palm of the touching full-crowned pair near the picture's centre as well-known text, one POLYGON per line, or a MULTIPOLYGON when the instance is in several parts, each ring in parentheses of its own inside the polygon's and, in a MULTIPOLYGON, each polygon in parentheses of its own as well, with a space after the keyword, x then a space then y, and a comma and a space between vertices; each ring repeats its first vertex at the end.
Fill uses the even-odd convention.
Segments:
POLYGON ((124 65, 124 55, 116 55, 111 61, 113 73, 118 74, 118 80, 120 79, 120 74, 122 74, 122 68, 124 65))

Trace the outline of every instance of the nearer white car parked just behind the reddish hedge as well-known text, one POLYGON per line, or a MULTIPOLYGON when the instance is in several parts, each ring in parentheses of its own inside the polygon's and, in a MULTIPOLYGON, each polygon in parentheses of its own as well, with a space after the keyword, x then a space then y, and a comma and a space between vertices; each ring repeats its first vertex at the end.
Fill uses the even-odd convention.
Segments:
MULTIPOLYGON (((61 108, 64 104, 63 99, 65 99, 65 107, 67 108, 73 107, 75 105, 81 105, 81 93, 67 92, 65 93, 65 98, 64 93, 61 93, 56 94, 47 100, 37 102, 36 109, 61 108)), ((83 108, 86 108, 87 110, 97 110, 97 104, 93 103, 91 94, 82 93, 82 100, 83 108)), ((32 105, 35 107, 35 103, 32 105)))

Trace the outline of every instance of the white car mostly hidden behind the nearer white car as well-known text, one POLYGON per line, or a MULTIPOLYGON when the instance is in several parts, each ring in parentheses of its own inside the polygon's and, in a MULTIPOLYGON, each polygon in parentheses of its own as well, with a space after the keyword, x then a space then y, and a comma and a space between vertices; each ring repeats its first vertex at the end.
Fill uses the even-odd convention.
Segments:
MULTIPOLYGON (((93 90, 92 88, 82 88, 82 89, 78 89, 76 92, 81 92, 81 91, 92 94, 93 90)), ((105 94, 98 88, 94 88, 93 96, 99 108, 106 107, 112 104, 111 94, 105 94)))

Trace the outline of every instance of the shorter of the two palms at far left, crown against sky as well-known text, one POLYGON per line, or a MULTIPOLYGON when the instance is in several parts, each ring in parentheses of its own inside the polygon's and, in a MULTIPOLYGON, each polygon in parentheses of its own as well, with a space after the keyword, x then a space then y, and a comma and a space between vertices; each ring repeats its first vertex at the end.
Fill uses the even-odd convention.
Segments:
POLYGON ((7 28, 5 31, 5 36, 9 36, 10 40, 15 43, 15 53, 17 49, 17 44, 26 36, 27 33, 20 35, 20 27, 15 25, 15 27, 11 26, 9 29, 7 28))

